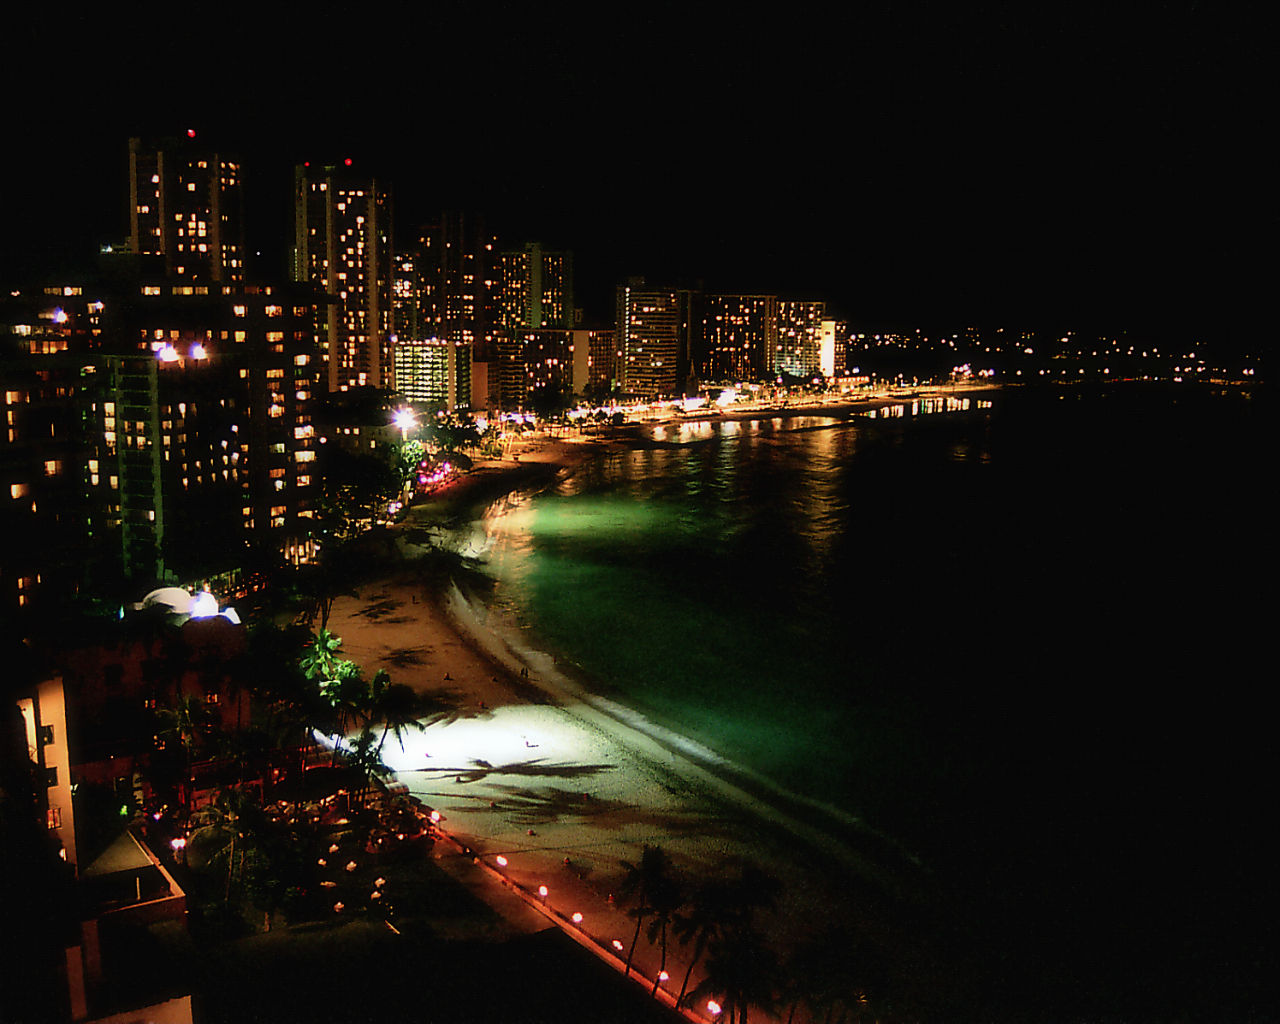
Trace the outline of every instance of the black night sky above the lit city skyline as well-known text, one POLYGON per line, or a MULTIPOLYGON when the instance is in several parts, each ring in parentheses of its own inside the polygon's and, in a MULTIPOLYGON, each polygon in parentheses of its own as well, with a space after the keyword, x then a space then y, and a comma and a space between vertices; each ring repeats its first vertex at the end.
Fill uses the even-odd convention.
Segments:
POLYGON ((460 6, 19 15, 0 278, 123 239, 128 136, 195 128, 243 160, 262 274, 293 163, 351 156, 402 234, 462 206, 572 248, 596 317, 643 274, 826 298, 855 328, 1256 342, 1262 5, 460 6))

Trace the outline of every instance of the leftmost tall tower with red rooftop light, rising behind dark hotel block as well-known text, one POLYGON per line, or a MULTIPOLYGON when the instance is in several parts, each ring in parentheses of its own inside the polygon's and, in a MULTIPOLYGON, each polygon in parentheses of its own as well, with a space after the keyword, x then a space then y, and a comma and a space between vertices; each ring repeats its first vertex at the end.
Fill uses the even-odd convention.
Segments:
POLYGON ((164 257, 166 275, 244 279, 239 164, 184 140, 129 140, 129 251, 164 257))

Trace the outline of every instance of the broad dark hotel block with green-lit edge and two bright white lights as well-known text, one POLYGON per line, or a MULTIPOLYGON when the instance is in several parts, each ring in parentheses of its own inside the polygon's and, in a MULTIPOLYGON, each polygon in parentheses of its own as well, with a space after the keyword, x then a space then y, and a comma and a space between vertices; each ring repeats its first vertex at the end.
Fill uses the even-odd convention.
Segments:
POLYGON ((255 548, 305 561, 319 492, 308 293, 140 292, 101 355, 93 406, 125 573, 216 576, 255 548))

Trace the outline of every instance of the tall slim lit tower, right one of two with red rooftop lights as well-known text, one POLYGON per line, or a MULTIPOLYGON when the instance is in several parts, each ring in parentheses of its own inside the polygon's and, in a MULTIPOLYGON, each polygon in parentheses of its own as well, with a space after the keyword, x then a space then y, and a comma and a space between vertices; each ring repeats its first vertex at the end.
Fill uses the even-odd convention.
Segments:
POLYGON ((300 165, 293 183, 293 279, 330 297, 316 315, 320 387, 392 387, 390 197, 333 166, 300 165))

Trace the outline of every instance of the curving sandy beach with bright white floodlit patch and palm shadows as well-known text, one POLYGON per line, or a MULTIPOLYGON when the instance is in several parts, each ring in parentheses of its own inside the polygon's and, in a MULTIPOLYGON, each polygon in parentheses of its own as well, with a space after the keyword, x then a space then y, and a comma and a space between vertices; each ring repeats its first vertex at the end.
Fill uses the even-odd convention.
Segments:
MULTIPOLYGON (((480 463, 426 508, 513 490, 518 500, 520 489, 544 486, 600 448, 625 443, 524 442, 518 461, 480 463)), ((782 956, 852 929, 892 959, 900 977, 914 974, 940 995, 951 984, 911 928, 927 886, 905 858, 833 809, 593 694, 529 643, 518 623, 457 584, 433 590, 407 567, 339 599, 329 628, 367 673, 385 668, 398 682, 456 701, 454 716, 407 735, 403 750, 388 744, 384 759, 394 781, 440 812, 443 829, 483 868, 468 868, 470 858, 449 844, 438 844, 436 856, 463 861, 456 873, 495 906, 511 910, 495 873, 529 892, 545 886, 553 916, 570 924, 580 914, 580 941, 614 952, 635 931, 618 895, 625 863, 637 864, 644 846, 655 845, 690 879, 736 873, 742 863, 777 877, 781 905, 763 923, 782 956)), ((552 923, 527 909, 512 918, 520 927, 552 923)), ((669 943, 663 987, 672 993, 687 956, 669 943)), ((658 973, 659 951, 643 934, 634 963, 646 978, 658 973)), ((753 1011, 753 1019, 764 1018, 753 1011)))

